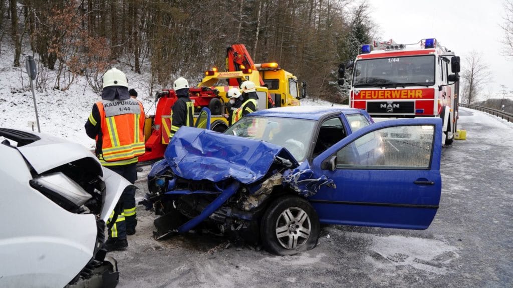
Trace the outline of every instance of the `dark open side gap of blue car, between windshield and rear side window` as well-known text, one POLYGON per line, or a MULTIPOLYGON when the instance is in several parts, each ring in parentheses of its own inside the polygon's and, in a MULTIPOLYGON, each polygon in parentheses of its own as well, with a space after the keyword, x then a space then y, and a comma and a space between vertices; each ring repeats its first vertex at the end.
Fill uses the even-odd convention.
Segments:
POLYGON ((342 125, 340 117, 326 119, 319 129, 319 136, 313 148, 313 158, 330 148, 334 143, 342 140, 347 133, 342 125))

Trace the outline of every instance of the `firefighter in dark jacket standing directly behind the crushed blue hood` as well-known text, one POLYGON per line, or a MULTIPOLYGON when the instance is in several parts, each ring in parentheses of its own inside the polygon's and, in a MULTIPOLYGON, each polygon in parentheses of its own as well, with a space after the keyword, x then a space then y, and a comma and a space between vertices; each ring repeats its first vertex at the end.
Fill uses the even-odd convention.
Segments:
POLYGON ((194 102, 189 98, 189 83, 183 77, 174 81, 174 92, 178 97, 171 108, 171 134, 169 138, 182 126, 194 126, 194 102))

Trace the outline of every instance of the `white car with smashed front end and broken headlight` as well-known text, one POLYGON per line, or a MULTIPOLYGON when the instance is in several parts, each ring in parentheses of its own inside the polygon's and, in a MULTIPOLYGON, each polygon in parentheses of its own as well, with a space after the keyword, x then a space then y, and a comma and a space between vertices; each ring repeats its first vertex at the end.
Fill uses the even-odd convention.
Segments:
POLYGON ((105 222, 131 184, 85 147, 0 129, 0 287, 114 287, 105 222))

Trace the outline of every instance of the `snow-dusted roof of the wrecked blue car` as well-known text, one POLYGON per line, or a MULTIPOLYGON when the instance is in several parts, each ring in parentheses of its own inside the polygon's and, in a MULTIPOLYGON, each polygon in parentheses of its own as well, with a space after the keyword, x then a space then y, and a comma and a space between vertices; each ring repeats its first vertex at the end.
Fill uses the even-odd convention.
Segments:
POLYGON ((269 116, 269 117, 287 117, 287 118, 298 118, 298 119, 309 119, 319 120, 324 115, 331 113, 353 113, 367 114, 367 112, 347 107, 326 107, 326 106, 292 106, 292 107, 280 107, 264 109, 257 112, 253 112, 251 116, 269 116))

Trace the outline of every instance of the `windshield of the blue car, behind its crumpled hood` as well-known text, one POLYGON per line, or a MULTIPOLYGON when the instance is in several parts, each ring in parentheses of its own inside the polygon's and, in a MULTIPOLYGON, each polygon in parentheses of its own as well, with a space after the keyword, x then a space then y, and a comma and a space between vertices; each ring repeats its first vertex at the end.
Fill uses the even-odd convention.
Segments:
POLYGON ((257 139, 286 148, 298 161, 305 160, 311 143, 315 120, 246 116, 225 134, 257 139))

